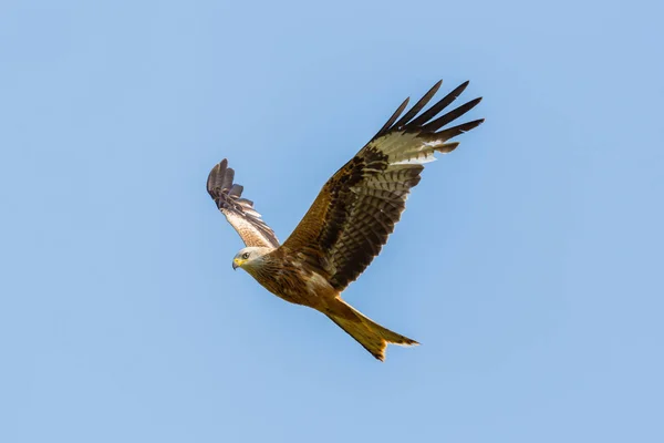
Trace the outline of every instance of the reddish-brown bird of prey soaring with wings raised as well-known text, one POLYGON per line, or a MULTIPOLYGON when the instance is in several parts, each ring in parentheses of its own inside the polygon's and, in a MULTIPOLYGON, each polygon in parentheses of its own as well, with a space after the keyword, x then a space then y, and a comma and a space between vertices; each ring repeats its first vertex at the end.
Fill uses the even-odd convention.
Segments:
POLYGON ((286 301, 321 311, 381 361, 387 343, 419 343, 362 315, 341 292, 387 241, 411 189, 419 183, 424 164, 436 159, 436 152, 454 151, 458 142, 449 140, 484 122, 445 127, 481 101, 471 100, 440 115, 468 82, 419 114, 440 84, 401 119, 408 99, 398 106, 377 134, 325 183, 283 244, 256 212, 253 202, 242 198, 243 187, 234 183, 235 172, 227 159, 212 167, 207 181, 208 193, 246 245, 235 256, 234 269, 246 270, 286 301))

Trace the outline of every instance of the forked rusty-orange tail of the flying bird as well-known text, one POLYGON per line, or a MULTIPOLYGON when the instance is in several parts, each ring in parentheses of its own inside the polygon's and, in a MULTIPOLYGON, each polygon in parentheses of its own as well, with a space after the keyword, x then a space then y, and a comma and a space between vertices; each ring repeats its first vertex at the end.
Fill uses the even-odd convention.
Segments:
POLYGON ((334 312, 328 312, 330 320, 334 321, 349 336, 357 340, 373 357, 385 361, 387 343, 398 346, 417 346, 415 340, 382 327, 369 317, 365 317, 342 299, 338 299, 334 312))

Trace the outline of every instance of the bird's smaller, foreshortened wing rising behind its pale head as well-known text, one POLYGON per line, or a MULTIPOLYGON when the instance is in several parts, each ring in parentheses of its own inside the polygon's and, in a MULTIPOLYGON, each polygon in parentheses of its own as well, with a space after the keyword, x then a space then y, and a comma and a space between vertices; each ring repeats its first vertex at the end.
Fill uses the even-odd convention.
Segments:
POLYGON ((235 171, 228 167, 226 158, 215 165, 208 176, 207 189, 226 219, 238 231, 247 246, 277 248, 279 240, 253 209, 253 202, 240 198, 242 186, 234 184, 235 171))

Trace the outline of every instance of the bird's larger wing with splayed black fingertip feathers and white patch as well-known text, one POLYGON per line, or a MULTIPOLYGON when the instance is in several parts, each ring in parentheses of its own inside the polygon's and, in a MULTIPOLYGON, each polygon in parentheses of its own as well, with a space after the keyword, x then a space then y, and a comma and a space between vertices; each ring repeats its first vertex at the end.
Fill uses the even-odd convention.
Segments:
POLYGON ((443 128, 475 107, 475 99, 438 114, 466 89, 456 87, 419 113, 440 87, 438 82, 401 120, 408 99, 378 133, 325 183, 284 248, 320 262, 332 286, 343 290, 378 255, 405 208, 411 188, 419 183, 423 164, 446 154, 458 143, 446 143, 484 120, 443 128), (396 122, 396 123, 395 123, 396 122))

